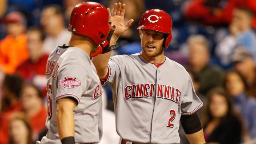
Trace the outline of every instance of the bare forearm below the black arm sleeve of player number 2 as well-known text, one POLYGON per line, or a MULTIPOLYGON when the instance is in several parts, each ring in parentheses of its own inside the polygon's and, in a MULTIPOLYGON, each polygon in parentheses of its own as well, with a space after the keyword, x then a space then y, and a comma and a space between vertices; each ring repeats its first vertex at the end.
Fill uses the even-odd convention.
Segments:
POLYGON ((203 129, 186 136, 191 144, 205 144, 203 129))

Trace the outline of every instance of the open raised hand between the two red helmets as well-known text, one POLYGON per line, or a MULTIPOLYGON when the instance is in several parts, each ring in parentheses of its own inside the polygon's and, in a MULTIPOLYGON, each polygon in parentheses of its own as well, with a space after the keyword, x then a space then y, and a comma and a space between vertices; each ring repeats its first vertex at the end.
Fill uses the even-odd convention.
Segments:
POLYGON ((124 24, 125 7, 125 4, 115 3, 113 16, 111 15, 110 9, 108 8, 108 20, 112 22, 112 25, 116 26, 116 30, 114 31, 113 36, 120 36, 129 28, 129 26, 131 26, 133 22, 133 19, 131 19, 126 24, 124 24))

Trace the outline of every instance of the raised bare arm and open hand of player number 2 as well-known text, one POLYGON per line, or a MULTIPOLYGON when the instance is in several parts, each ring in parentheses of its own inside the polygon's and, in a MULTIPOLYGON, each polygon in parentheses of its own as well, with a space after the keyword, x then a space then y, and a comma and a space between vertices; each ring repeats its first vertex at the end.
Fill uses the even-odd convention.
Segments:
MULTIPOLYGON (((110 45, 115 44, 117 38, 125 32, 128 27, 132 24, 133 20, 129 20, 124 24, 124 13, 125 13, 125 4, 115 3, 113 9, 113 16, 111 15, 110 9, 108 8, 109 21, 112 22, 112 25, 116 26, 116 29, 110 39, 110 45)), ((100 79, 104 79, 108 73, 108 60, 111 56, 111 52, 99 54, 96 57, 93 57, 92 63, 95 65, 98 76, 100 79)))

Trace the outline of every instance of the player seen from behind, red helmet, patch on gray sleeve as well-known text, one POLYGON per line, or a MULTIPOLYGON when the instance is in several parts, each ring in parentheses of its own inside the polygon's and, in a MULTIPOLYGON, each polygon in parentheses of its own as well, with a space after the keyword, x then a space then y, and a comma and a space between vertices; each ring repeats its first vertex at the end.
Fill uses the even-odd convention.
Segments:
POLYGON ((95 144, 100 141, 102 86, 90 54, 99 44, 108 43, 104 40, 110 29, 113 32, 103 5, 84 2, 73 9, 68 27, 72 32, 69 43, 55 48, 48 58, 48 133, 37 144, 95 144))

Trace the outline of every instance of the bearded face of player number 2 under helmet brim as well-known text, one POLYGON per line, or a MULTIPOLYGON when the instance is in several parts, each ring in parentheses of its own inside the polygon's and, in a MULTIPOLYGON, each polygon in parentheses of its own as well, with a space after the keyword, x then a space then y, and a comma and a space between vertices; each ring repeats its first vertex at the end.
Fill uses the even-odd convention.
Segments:
POLYGON ((148 57, 156 57, 164 54, 164 36, 163 32, 153 30, 140 30, 142 54, 148 57))

